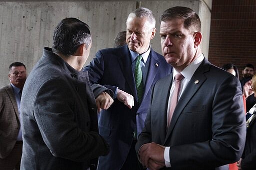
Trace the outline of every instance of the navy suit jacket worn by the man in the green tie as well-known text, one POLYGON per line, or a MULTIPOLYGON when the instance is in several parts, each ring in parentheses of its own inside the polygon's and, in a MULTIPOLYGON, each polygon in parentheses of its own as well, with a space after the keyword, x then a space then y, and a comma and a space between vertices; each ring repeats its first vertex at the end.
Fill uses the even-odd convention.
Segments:
POLYGON ((119 88, 134 97, 134 106, 129 109, 122 102, 114 99, 107 110, 102 110, 99 117, 99 134, 110 146, 109 154, 99 158, 98 170, 119 170, 129 152, 133 132, 137 127, 138 134, 144 126, 148 110, 151 86, 163 76, 170 74, 171 67, 163 56, 151 49, 148 57, 149 68, 141 104, 136 101, 136 87, 127 45, 119 48, 102 49, 84 69, 89 73, 92 84, 105 85, 113 92, 119 88))

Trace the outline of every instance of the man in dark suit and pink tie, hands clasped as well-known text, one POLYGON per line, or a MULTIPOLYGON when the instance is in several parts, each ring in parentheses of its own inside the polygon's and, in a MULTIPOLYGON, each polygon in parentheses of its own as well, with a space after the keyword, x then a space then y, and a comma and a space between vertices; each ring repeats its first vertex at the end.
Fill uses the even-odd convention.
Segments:
POLYGON ((238 79, 204 58, 200 19, 193 10, 171 7, 160 20, 162 53, 174 69, 152 89, 145 128, 136 144, 139 160, 150 170, 215 170, 239 160, 246 127, 238 79), (184 78, 167 124, 175 105, 171 99, 177 73, 184 78))

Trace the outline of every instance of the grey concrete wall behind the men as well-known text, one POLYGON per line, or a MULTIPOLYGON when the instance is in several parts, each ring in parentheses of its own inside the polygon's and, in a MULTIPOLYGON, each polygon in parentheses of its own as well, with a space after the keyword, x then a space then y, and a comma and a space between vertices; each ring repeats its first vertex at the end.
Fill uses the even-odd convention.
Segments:
POLYGON ((1 0, 0 1, 0 87, 9 83, 10 63, 23 62, 29 73, 51 47, 52 31, 65 17, 86 22, 92 32, 92 48, 85 64, 102 48, 113 47, 115 35, 126 29, 126 17, 137 6, 147 7, 156 18, 157 34, 151 41, 159 53, 159 15, 167 8, 182 5, 195 10, 202 21, 203 53, 208 54, 211 0, 1 0))

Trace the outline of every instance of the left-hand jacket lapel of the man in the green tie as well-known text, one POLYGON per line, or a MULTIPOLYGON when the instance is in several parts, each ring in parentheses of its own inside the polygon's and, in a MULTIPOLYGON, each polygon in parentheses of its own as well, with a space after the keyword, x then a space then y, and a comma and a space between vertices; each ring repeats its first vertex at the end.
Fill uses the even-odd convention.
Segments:
POLYGON ((132 64, 130 61, 130 52, 128 50, 127 45, 123 46, 120 48, 118 57, 118 62, 120 64, 120 68, 122 70, 123 75, 125 75, 126 82, 128 83, 131 91, 132 91, 132 96, 136 99, 137 98, 137 93, 136 93, 136 86, 135 86, 135 80, 133 76, 133 71, 132 71, 132 64))

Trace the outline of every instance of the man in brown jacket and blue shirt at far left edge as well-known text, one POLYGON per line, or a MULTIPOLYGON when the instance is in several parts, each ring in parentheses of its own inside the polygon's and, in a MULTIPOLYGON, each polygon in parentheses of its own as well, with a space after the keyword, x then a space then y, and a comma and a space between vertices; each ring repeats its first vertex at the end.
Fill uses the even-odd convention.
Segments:
POLYGON ((22 153, 19 106, 26 80, 25 65, 11 63, 8 78, 10 84, 0 89, 0 169, 19 170, 22 153))

